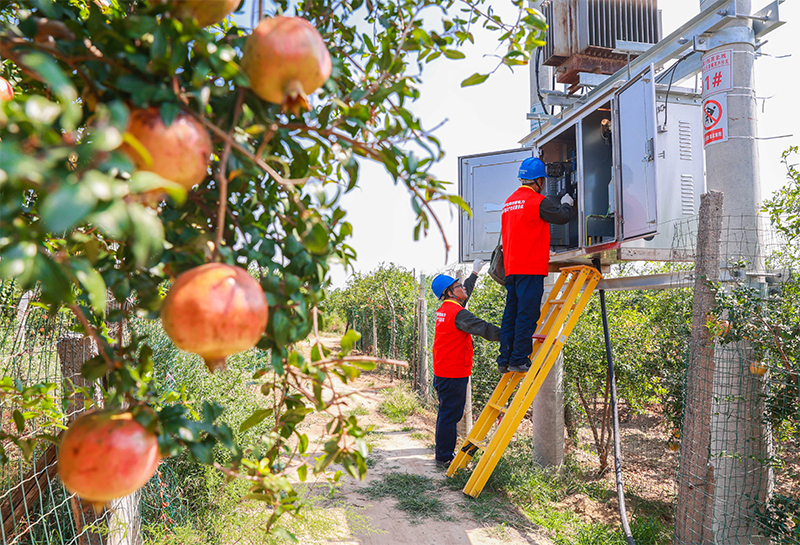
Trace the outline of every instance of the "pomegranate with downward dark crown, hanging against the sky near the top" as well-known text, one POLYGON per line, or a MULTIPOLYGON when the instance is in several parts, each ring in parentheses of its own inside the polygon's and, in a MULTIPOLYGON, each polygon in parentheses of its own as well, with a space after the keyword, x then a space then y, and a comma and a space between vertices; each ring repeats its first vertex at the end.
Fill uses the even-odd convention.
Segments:
POLYGON ((331 76, 331 56, 317 29, 302 17, 263 19, 247 38, 242 69, 253 92, 297 115, 306 95, 331 76))

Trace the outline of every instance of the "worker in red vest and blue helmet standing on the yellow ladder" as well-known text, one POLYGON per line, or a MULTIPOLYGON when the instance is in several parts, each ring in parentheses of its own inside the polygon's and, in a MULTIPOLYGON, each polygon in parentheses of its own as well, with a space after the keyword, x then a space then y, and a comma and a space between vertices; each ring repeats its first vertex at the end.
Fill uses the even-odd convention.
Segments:
POLYGON ((501 219, 506 306, 500 325, 501 373, 526 372, 531 367, 533 334, 542 305, 544 279, 550 263, 550 224, 568 223, 575 204, 569 193, 557 205, 542 195, 547 168, 529 157, 519 167, 522 184, 503 205, 501 219))

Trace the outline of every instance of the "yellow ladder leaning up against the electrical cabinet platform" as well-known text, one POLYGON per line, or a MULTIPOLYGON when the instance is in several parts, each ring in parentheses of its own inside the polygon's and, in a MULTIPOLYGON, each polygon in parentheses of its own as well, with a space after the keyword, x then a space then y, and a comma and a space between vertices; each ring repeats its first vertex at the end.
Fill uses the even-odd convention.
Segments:
POLYGON ((479 449, 484 450, 475 471, 464 486, 465 494, 473 498, 480 495, 601 278, 593 267, 561 269, 561 275, 542 306, 536 334, 533 336, 530 370, 527 373, 506 373, 502 376, 447 471, 447 476, 452 477, 456 471, 466 467, 479 449), (517 393, 514 399, 506 407, 515 390, 517 393), (487 439, 498 420, 494 435, 487 439))

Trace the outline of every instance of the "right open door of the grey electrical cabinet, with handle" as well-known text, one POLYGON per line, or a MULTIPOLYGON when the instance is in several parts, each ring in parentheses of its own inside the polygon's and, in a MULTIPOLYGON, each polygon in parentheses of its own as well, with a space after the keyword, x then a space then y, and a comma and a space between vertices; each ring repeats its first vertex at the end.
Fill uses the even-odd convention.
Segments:
POLYGON ((617 94, 622 240, 658 232, 656 89, 650 69, 617 94))

